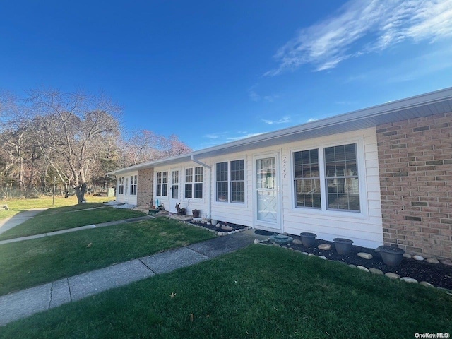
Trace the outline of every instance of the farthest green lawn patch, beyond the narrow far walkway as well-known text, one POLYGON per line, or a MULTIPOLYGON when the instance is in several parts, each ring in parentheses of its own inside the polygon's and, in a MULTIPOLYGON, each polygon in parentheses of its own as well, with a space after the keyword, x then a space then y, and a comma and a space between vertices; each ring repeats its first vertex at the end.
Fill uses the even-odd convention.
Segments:
POLYGON ((73 227, 122 220, 142 215, 145 215, 145 213, 138 210, 112 208, 103 206, 102 203, 85 203, 83 205, 49 208, 34 218, 0 234, 0 240, 66 230, 73 227), (96 209, 91 210, 90 208, 96 209))

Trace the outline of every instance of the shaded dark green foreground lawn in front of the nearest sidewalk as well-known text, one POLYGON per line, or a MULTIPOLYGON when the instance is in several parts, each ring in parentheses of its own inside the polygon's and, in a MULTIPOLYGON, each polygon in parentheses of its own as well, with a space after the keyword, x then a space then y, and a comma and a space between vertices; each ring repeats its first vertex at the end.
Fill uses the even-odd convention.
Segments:
POLYGON ((65 304, 0 338, 414 338, 451 333, 451 296, 251 245, 65 304))

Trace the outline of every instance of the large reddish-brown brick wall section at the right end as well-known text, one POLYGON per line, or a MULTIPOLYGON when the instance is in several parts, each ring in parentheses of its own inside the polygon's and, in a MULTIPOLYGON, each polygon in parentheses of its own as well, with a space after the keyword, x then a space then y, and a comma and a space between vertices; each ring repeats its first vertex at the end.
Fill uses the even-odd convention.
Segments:
POLYGON ((452 258, 452 112, 376 127, 383 239, 452 258))

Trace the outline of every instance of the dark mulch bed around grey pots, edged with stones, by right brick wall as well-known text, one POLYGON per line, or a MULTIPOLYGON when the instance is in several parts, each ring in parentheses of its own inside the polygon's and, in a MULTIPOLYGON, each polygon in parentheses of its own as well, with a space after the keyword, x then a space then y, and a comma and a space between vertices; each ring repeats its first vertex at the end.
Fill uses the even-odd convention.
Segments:
MULTIPOLYGON (((292 234, 290 234, 290 237, 300 239, 300 237, 293 236, 292 234)), ((270 242, 268 242, 268 244, 270 244, 270 242)), ((399 266, 387 266, 381 260, 379 252, 374 251, 374 249, 353 245, 351 253, 343 256, 335 251, 334 242, 328 242, 321 239, 316 239, 315 246, 310 248, 293 243, 281 244, 281 246, 307 252, 316 256, 325 256, 329 260, 342 261, 355 266, 360 265, 366 268, 378 268, 379 270, 382 270, 383 273, 397 273, 400 277, 415 278, 419 282, 427 281, 427 283, 431 283, 435 287, 443 287, 452 290, 452 266, 444 265, 443 263, 427 263, 426 261, 416 261, 412 258, 403 258, 403 261, 399 266), (331 244, 331 249, 328 251, 318 249, 317 246, 319 246, 319 244, 331 244), (373 258, 361 258, 357 256, 357 253, 359 252, 369 253, 373 258)))

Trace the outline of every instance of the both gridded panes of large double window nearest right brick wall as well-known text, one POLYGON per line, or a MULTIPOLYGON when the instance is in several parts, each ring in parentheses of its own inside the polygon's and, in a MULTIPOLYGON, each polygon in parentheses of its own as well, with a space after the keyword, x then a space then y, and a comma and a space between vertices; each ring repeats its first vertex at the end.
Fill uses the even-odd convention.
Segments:
POLYGON ((356 143, 294 152, 293 166, 296 208, 361 210, 356 143))

